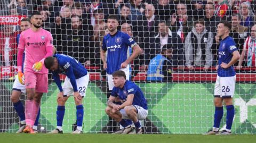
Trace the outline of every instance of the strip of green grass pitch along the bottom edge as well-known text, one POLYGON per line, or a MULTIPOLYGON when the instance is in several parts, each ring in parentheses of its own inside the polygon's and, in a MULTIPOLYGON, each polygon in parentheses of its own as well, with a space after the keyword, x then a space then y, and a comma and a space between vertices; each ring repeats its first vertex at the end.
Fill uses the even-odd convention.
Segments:
POLYGON ((97 142, 97 143, 160 143, 160 142, 214 142, 214 143, 241 143, 241 142, 255 142, 256 136, 253 134, 244 135, 230 135, 230 136, 205 136, 201 134, 15 134, 15 133, 0 133, 1 142, 54 142, 54 143, 68 143, 68 142, 97 142))

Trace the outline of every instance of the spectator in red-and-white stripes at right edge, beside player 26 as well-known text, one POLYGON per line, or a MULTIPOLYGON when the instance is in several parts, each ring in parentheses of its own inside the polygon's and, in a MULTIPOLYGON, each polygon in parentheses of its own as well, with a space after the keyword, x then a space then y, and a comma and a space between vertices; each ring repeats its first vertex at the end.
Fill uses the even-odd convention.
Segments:
POLYGON ((251 28, 251 36, 247 37, 244 45, 243 52, 239 59, 238 66, 236 66, 237 70, 242 68, 243 62, 245 62, 246 66, 255 66, 256 64, 256 25, 251 28), (244 59, 246 59, 244 61, 244 59))

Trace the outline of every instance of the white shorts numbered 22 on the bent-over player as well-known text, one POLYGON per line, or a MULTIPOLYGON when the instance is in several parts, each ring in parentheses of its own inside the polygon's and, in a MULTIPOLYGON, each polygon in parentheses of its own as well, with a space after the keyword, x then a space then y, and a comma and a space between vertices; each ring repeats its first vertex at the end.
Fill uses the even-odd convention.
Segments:
MULTIPOLYGON (((89 83, 89 78, 89 73, 87 73, 86 75, 84 75, 84 77, 76 79, 77 90, 80 92, 80 95, 82 97, 85 97, 86 89, 89 83)), ((74 95, 73 86, 71 85, 70 79, 68 77, 65 78, 62 89, 64 96, 74 95)))

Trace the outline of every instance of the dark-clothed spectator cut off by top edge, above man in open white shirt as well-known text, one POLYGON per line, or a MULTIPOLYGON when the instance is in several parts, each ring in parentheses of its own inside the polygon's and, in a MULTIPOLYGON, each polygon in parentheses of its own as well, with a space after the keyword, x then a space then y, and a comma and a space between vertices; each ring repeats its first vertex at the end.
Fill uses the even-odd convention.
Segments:
MULTIPOLYGON (((151 2, 152 3, 152 2, 151 2)), ((155 14, 159 16, 161 20, 170 19, 170 15, 175 13, 175 5, 173 0, 159 0, 154 4, 156 12, 155 14)))

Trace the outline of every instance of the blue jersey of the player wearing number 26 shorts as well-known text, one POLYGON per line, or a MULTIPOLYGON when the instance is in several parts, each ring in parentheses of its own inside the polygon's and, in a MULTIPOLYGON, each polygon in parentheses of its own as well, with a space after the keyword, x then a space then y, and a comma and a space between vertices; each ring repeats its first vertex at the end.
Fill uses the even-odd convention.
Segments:
POLYGON ((220 41, 220 47, 219 47, 219 52, 218 52, 219 68, 217 71, 219 77, 233 77, 234 75, 236 75, 233 65, 231 65, 227 69, 220 68, 220 64, 222 62, 228 64, 231 61, 234 51, 237 51, 237 47, 236 47, 236 43, 232 37, 228 36, 225 39, 222 39, 220 41))

